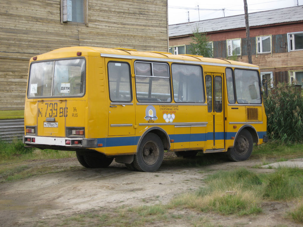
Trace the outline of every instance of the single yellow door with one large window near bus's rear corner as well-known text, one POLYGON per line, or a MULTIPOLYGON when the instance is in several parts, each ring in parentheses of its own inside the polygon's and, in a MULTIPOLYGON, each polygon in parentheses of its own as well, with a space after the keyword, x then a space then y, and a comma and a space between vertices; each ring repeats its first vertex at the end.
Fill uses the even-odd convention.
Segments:
POLYGON ((108 78, 108 136, 135 135, 130 60, 105 60, 108 78))

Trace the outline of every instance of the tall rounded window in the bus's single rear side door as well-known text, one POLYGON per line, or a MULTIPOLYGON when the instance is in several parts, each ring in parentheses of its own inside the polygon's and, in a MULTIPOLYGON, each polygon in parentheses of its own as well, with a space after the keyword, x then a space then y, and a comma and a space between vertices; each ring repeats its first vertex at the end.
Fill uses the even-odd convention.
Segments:
POLYGON ((108 62, 109 98, 112 102, 132 100, 129 64, 108 62))

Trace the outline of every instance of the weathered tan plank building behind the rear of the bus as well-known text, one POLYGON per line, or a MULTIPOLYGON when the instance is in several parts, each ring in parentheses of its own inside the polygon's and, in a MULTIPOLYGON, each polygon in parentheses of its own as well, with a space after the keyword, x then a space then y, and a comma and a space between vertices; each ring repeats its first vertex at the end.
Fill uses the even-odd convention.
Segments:
POLYGON ((168 49, 167 0, 2 0, 0 110, 24 108, 29 59, 57 48, 168 49))

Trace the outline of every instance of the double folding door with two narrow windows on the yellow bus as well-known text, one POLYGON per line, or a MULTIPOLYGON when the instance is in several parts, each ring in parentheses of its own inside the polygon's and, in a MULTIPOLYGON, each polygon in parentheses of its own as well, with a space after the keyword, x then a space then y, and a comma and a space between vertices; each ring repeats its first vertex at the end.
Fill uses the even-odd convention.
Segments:
POLYGON ((223 74, 205 72, 208 124, 205 152, 225 150, 223 74))

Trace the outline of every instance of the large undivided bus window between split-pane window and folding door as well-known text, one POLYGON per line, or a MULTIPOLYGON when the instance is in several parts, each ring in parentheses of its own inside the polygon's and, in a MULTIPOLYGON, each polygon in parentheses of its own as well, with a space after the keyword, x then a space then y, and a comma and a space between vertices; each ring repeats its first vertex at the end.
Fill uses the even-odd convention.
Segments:
POLYGON ((205 102, 200 66, 172 64, 171 71, 175 102, 205 102))

